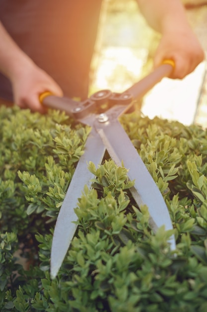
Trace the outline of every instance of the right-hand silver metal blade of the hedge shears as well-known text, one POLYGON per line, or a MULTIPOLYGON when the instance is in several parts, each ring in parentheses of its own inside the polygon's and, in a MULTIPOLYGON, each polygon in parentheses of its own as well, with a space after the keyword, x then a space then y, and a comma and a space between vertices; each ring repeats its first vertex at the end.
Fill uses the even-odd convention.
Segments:
MULTIPOLYGON (((122 165, 129 169, 130 180, 135 180, 135 185, 131 188, 131 193, 138 206, 147 205, 150 213, 150 223, 154 232, 165 225, 166 230, 172 229, 171 219, 168 209, 156 183, 148 172, 146 166, 138 155, 126 132, 114 117, 112 108, 108 113, 108 122, 96 123, 95 127, 99 133, 108 153, 118 166, 122 165), (117 140, 119 134, 120 140, 117 140)), ((175 249, 174 237, 170 239, 171 249, 175 249)))

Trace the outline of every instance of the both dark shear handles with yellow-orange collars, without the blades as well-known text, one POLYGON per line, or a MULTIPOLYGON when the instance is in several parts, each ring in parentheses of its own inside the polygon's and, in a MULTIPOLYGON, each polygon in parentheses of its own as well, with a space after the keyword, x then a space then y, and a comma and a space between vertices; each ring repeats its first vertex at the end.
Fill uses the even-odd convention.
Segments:
POLYGON ((40 102, 46 107, 65 111, 69 116, 75 119, 81 119, 89 113, 94 112, 104 101, 109 101, 112 105, 120 104, 120 102, 127 105, 132 102, 132 99, 141 98, 163 77, 168 77, 174 67, 175 64, 172 60, 165 60, 152 73, 120 94, 112 93, 110 90, 101 90, 94 93, 85 101, 78 102, 66 97, 57 97, 50 92, 45 92, 40 95, 40 102))

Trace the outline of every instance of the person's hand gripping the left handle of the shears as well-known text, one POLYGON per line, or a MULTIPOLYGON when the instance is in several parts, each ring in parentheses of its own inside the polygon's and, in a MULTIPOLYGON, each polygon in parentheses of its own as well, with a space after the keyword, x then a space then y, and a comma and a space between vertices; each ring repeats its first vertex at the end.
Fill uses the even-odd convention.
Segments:
POLYGON ((31 111, 47 112, 39 101, 39 96, 43 92, 49 91, 57 96, 63 96, 59 85, 34 63, 28 63, 15 72, 11 77, 11 83, 14 104, 21 108, 29 108, 31 111))

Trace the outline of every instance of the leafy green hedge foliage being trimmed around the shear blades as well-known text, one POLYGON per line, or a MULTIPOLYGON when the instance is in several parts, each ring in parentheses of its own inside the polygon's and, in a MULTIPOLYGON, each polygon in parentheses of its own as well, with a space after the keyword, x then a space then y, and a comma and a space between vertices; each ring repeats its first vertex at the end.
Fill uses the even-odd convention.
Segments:
POLYGON ((207 311, 207 133, 135 112, 121 122, 164 196, 177 256, 171 231, 151 231, 127 169, 106 155, 88 166, 93 187, 74 207, 77 232, 51 280, 55 221, 90 129, 58 111, 1 106, 1 312, 207 311))

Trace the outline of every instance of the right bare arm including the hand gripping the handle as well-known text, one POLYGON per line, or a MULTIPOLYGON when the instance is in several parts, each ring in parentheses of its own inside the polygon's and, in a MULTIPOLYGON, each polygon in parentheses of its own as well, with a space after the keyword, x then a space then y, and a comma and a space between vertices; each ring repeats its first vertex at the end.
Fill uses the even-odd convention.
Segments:
POLYGON ((148 24, 161 33, 154 55, 154 66, 172 59, 175 69, 171 78, 184 78, 204 60, 202 46, 192 31, 180 0, 137 0, 148 24))

